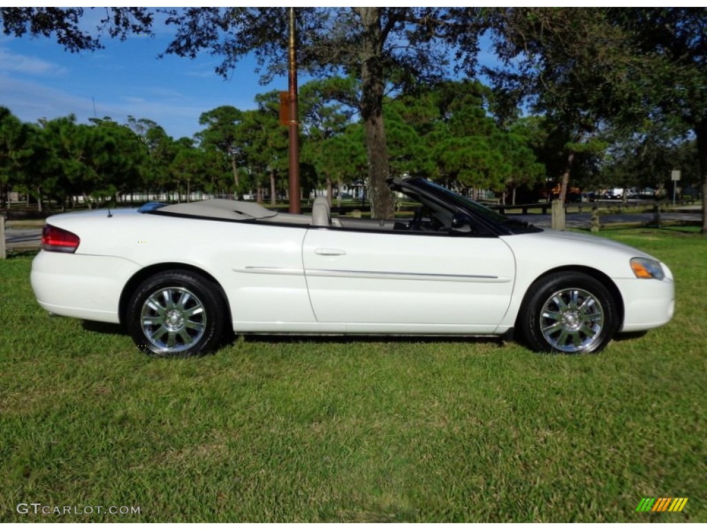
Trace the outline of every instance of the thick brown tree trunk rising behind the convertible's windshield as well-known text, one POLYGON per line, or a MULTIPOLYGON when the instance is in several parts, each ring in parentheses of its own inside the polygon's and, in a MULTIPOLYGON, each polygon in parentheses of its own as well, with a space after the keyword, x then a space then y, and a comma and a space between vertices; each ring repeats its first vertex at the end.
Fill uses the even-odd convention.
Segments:
POLYGON ((382 47, 385 40, 380 27, 379 7, 359 7, 363 42, 361 53, 361 119, 366 131, 368 153, 368 199, 373 219, 395 217, 395 203, 385 180, 389 175, 388 151, 383 124, 384 71, 382 47))

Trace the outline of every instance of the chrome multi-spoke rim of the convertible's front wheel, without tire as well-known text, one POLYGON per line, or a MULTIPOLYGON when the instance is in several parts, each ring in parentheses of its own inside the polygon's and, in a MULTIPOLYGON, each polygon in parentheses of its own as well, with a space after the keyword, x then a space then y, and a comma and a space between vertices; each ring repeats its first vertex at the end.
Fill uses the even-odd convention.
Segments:
POLYGON ((590 350, 604 329, 604 308, 584 289, 565 288, 542 306, 540 330, 552 348, 565 353, 590 350))

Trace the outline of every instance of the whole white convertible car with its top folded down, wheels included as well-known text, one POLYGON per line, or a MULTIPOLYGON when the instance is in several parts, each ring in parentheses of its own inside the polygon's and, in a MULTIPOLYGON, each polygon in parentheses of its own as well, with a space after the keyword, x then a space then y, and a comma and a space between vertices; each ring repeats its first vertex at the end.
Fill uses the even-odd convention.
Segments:
POLYGON ((141 351, 200 355, 236 334, 514 334, 600 351, 670 320, 670 269, 599 237, 506 218, 426 179, 390 179, 407 219, 214 199, 47 219, 32 266, 53 314, 127 326, 141 351), (515 332, 515 333, 514 333, 515 332))

